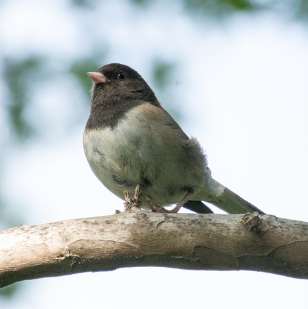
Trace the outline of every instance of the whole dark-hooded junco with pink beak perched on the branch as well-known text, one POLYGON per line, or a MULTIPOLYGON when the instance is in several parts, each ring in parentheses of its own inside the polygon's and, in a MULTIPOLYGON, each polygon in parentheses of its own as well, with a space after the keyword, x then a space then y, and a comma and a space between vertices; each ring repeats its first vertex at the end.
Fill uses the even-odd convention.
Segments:
POLYGON ((94 81, 83 135, 91 169, 120 198, 140 185, 144 209, 177 203, 212 213, 206 201, 230 214, 263 211, 212 179, 206 155, 162 108, 135 70, 111 63, 87 73, 94 81))

